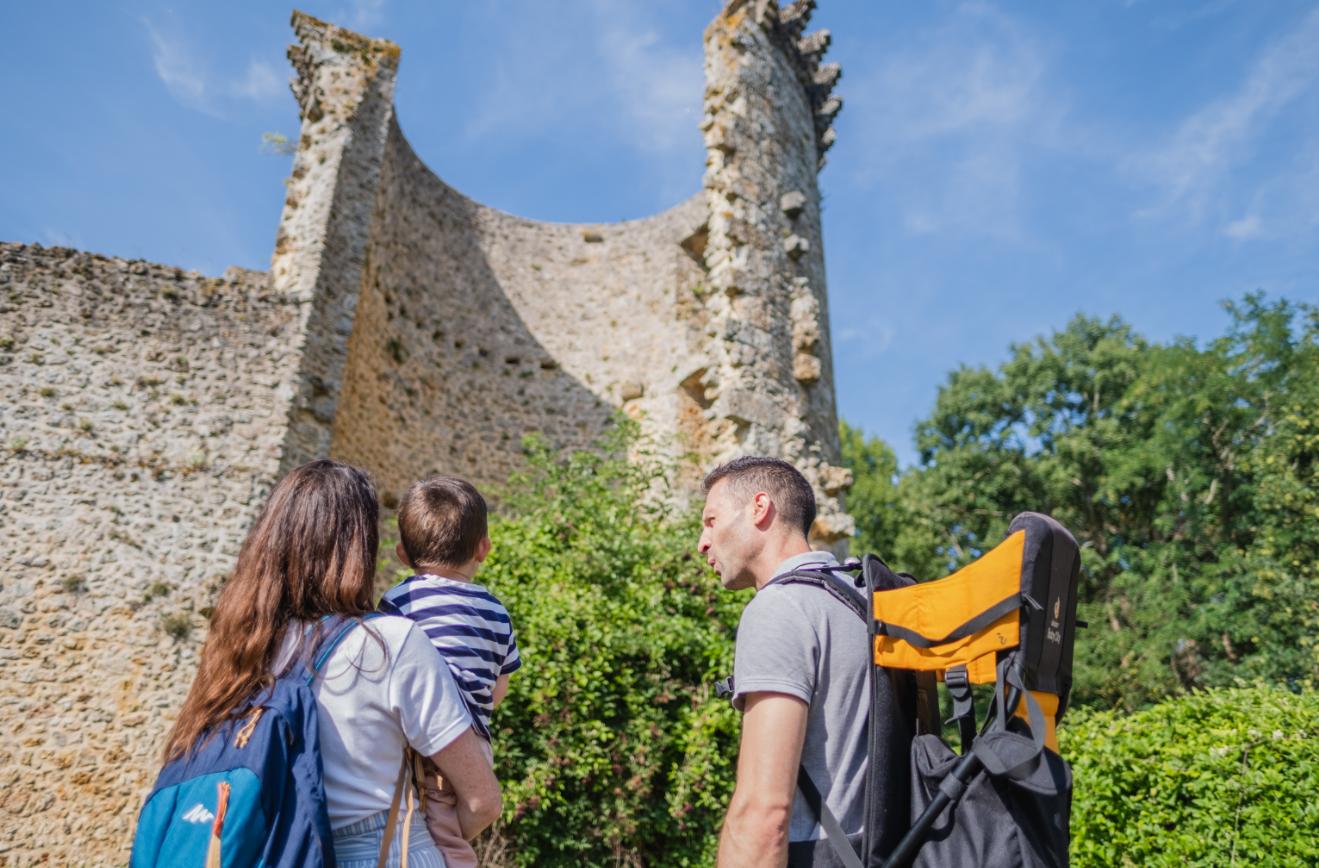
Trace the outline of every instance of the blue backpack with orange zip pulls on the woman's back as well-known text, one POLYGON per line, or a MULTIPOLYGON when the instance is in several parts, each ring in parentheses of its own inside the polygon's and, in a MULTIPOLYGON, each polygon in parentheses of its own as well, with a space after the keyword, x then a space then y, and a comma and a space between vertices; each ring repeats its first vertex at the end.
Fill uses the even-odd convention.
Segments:
POLYGON ((245 718, 208 731, 161 769, 137 818, 129 868, 219 868, 222 853, 226 868, 332 868, 311 681, 360 621, 328 621, 310 673, 298 657, 245 718))

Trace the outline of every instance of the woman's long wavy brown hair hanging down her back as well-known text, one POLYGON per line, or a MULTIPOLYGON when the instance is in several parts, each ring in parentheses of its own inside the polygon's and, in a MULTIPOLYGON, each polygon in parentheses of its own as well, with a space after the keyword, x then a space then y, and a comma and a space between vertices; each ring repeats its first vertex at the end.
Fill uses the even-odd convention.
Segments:
POLYGON ((197 678, 165 741, 165 762, 274 683, 289 621, 369 612, 380 504, 365 471, 315 460, 285 476, 257 517, 211 616, 197 678))

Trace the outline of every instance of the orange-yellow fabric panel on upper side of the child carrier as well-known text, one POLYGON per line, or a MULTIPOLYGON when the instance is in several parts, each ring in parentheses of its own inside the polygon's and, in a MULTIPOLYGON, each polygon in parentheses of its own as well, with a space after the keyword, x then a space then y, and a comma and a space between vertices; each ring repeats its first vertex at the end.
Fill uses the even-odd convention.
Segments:
MULTIPOLYGON (((929 638, 947 636, 1000 600, 1021 592, 1021 554, 1026 532, 1012 534, 983 558, 946 579, 874 595, 874 617, 929 638)), ((874 638, 874 662, 894 669, 947 669, 975 665, 972 683, 993 681, 993 653, 1021 640, 1017 612, 1009 612, 979 633, 936 648, 913 648, 892 636, 874 638), (988 657, 988 678, 983 669, 988 657), (976 662, 980 661, 980 662, 976 662), (979 675, 979 677, 977 677, 979 675)))

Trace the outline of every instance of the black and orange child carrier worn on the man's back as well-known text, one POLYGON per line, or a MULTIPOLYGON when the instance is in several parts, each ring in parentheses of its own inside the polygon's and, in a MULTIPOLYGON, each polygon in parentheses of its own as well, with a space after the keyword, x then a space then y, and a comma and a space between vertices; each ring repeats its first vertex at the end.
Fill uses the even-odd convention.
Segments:
POLYGON ((873 649, 865 831, 844 835, 803 766, 798 789, 828 846, 813 842, 813 857, 790 853, 790 865, 1067 868, 1072 780, 1055 727, 1084 627, 1079 570, 1071 533, 1026 512, 1002 543, 936 582, 917 584, 873 554, 773 579, 832 594, 867 621, 873 649), (840 570, 860 573, 864 600, 840 570), (936 681, 954 700, 960 756, 940 736, 936 681), (995 698, 977 731, 971 687, 984 683, 995 698))

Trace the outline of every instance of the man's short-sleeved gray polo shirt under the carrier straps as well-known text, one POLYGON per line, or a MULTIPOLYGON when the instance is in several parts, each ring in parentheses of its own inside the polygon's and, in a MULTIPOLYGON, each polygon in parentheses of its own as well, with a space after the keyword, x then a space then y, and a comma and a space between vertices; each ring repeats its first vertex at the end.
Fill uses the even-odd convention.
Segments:
MULTIPOLYGON (((787 558, 776 570, 838 566, 826 551, 787 558)), ((852 583, 847 573, 835 574, 852 583)), ((824 588, 774 584, 757 591, 737 625, 733 707, 749 693, 782 693, 810 706, 802 764, 847 834, 860 832, 865 806, 865 723, 871 708, 865 623, 824 588)), ((824 830, 802 799, 793 802, 787 840, 815 840, 824 830)))

